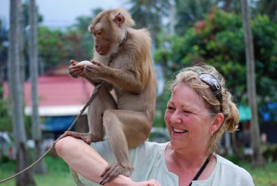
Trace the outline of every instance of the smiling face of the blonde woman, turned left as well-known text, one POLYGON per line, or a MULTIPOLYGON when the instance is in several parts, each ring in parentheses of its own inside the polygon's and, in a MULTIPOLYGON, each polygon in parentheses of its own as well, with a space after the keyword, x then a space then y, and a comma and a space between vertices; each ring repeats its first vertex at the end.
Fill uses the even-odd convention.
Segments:
POLYGON ((208 147, 215 119, 208 112, 204 100, 188 85, 183 83, 174 88, 165 120, 173 148, 208 147))

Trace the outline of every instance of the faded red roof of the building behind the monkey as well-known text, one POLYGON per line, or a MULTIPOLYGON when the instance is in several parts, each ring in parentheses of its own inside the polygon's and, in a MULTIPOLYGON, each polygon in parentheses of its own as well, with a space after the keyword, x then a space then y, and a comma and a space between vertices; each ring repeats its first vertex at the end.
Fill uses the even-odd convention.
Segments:
MULTIPOLYGON (((8 83, 4 83, 4 98, 8 96, 8 83)), ((39 107, 84 105, 93 90, 93 85, 84 78, 71 78, 68 75, 40 76, 37 80, 39 107)), ((31 85, 24 83, 26 106, 31 105, 31 85)))

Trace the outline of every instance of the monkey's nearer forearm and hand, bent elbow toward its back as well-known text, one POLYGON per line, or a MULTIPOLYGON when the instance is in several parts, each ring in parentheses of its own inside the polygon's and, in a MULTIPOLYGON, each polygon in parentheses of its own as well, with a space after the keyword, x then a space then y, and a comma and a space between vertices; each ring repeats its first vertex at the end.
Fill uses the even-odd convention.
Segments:
POLYGON ((145 79, 139 69, 113 69, 96 60, 94 65, 87 65, 84 74, 89 78, 101 78, 116 87, 130 92, 141 93, 145 88, 145 79))

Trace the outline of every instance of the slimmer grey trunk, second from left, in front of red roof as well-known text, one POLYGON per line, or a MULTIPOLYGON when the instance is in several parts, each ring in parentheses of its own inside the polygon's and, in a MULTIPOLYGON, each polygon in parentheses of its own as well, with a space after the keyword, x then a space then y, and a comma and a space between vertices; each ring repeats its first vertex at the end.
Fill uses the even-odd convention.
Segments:
MULTIPOLYGON (((37 8, 35 0, 29 1, 29 65, 30 65, 30 82, 32 87, 32 135, 35 141, 35 160, 39 159, 44 153, 42 149, 42 130, 40 129, 40 119, 38 114, 38 99, 37 99, 37 8)), ((34 167, 35 173, 46 174, 46 164, 44 160, 40 160, 34 167)))

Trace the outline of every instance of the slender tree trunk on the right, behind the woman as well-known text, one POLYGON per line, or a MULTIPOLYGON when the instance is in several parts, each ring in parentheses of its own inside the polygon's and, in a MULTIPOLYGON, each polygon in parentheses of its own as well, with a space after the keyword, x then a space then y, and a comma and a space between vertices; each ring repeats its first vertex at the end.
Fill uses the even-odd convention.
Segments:
POLYGON ((256 99, 255 59, 253 49, 253 37, 250 28, 250 14, 247 0, 241 0, 242 18, 244 22, 244 42, 247 58, 247 94, 251 108, 251 145, 253 148, 252 164, 254 167, 262 167, 262 153, 260 151, 260 128, 258 123, 258 110, 256 99))

